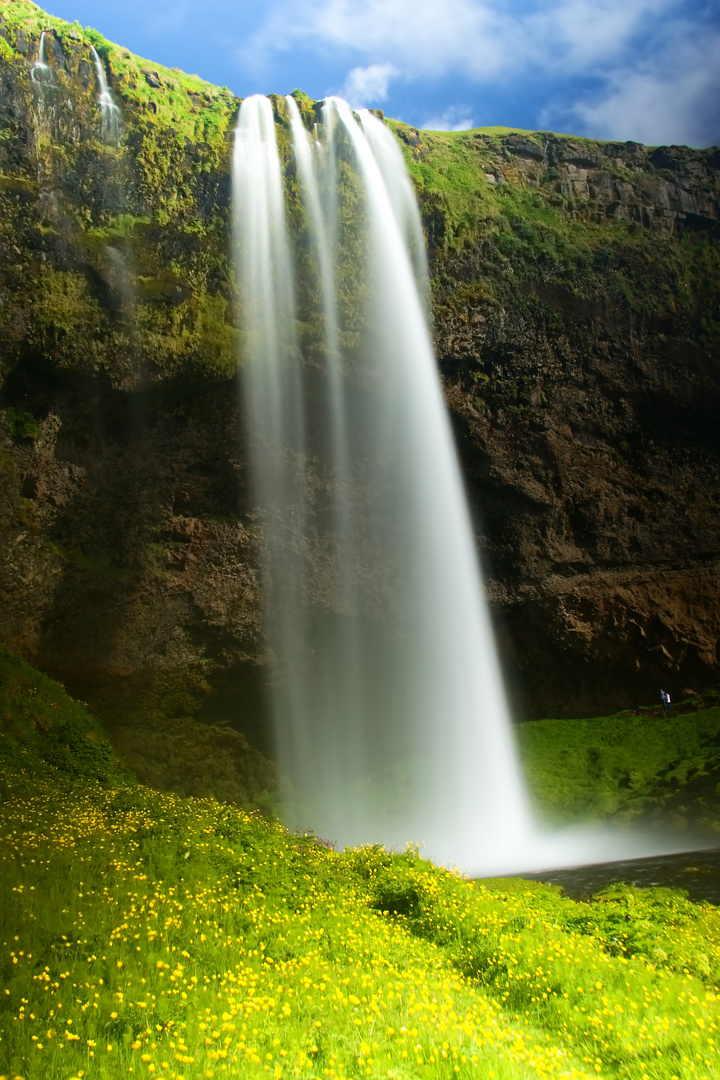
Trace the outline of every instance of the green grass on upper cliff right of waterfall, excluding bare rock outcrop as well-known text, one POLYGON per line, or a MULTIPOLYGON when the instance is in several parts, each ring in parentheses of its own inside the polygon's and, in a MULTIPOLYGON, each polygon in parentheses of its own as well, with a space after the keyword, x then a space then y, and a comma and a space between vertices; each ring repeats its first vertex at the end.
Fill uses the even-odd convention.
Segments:
MULTIPOLYGON (((438 310, 512 302, 530 306, 530 318, 542 322, 549 315, 547 301, 529 301, 524 283, 543 283, 559 286, 568 297, 601 297, 647 316, 685 321, 697 328, 704 345, 715 348, 717 306, 709 301, 709 283, 717 281, 720 261, 707 238, 692 230, 665 235, 622 215, 608 216, 592 195, 570 194, 567 186, 559 193, 557 167, 528 170, 507 156, 505 136, 512 129, 422 132, 420 146, 415 146, 407 124, 390 121, 390 126, 409 143, 405 159, 433 255, 438 310), (481 257, 472 262, 468 276, 462 258, 473 252, 481 257), (446 269, 457 257, 459 273, 446 269)), ((514 133, 543 145, 544 133, 514 133)), ((604 154, 604 144, 597 139, 572 137, 570 143, 601 162, 606 176, 635 186, 638 203, 644 198, 642 185, 656 181, 656 171, 628 168, 604 154)))

